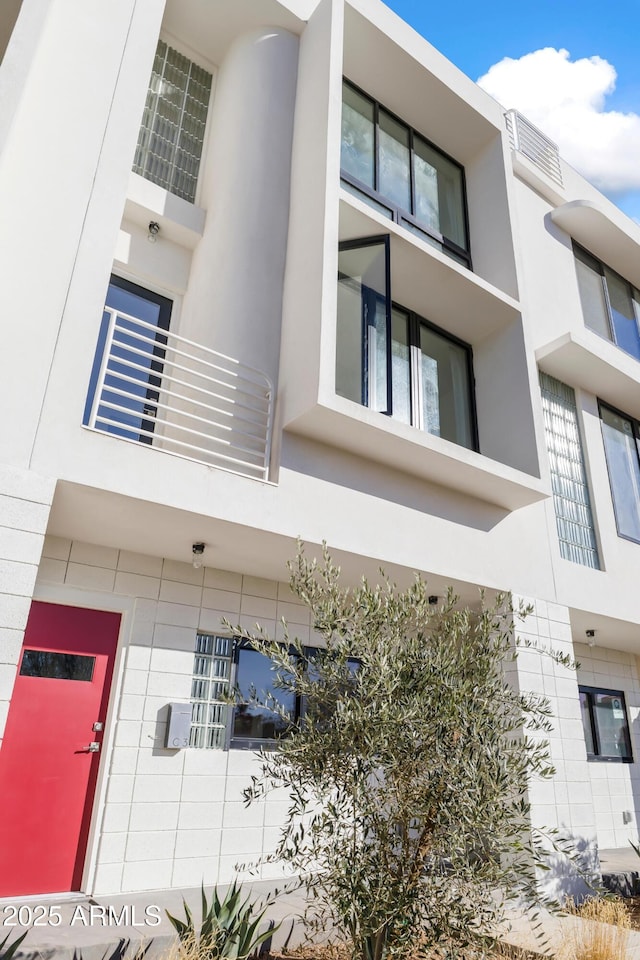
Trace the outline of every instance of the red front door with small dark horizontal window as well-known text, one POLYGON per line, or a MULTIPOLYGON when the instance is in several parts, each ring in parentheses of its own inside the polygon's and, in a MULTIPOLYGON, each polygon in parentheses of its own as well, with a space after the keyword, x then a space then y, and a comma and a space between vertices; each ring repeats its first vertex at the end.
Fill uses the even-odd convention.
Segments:
POLYGON ((80 889, 119 628, 31 606, 0 747, 0 897, 80 889))

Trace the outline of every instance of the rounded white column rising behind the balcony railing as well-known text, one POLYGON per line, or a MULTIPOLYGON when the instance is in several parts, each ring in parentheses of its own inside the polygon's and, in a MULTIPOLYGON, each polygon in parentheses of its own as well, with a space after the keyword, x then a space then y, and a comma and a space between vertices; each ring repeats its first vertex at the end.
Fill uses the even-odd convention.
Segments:
POLYGON ((261 28, 236 40, 220 67, 202 175, 207 220, 180 324, 274 382, 297 65, 298 38, 261 28))

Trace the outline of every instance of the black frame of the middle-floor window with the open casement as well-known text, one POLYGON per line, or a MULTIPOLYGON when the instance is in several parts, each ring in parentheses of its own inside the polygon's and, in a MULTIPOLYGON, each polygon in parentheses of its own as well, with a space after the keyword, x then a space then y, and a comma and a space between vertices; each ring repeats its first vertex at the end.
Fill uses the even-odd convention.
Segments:
MULTIPOLYGON (((450 443, 456 443, 457 446, 463 446, 463 449, 470 449, 476 453, 480 452, 480 441, 478 434, 478 416, 477 416, 477 406, 476 406, 476 381, 473 369, 473 347, 471 344, 467 343, 465 340, 461 340, 459 337, 456 337, 454 334, 449 333, 447 330, 443 330, 442 327, 437 326, 435 323, 432 323, 426 317, 423 317, 421 314, 417 313, 415 310, 410 310, 407 307, 404 307, 398 301, 394 300, 391 296, 391 238, 389 234, 383 234, 380 236, 373 237, 361 237, 355 240, 343 240, 338 244, 339 251, 342 250, 355 250, 362 247, 374 246, 375 244, 381 244, 384 242, 385 245, 385 284, 386 284, 386 313, 387 313, 387 343, 386 343, 386 361, 387 361, 387 370, 386 370, 386 385, 387 385, 387 408, 386 410, 378 410, 377 413, 382 413, 383 416, 393 418, 393 367, 392 367, 392 312, 395 308, 396 310, 406 314, 408 316, 408 328, 409 328, 409 391, 411 397, 411 422, 412 426, 416 430, 420 430, 421 433, 425 433, 429 436, 428 430, 425 430, 424 427, 420 427, 418 423, 418 417, 416 416, 414 397, 416 396, 415 384, 416 379, 420 377, 420 371, 417 369, 418 361, 417 355, 421 352, 420 346, 420 327, 425 326, 429 330, 432 330, 438 336, 442 337, 445 340, 448 340, 450 343, 454 343, 456 346, 461 347, 465 352, 465 366, 467 372, 467 381, 469 386, 469 423, 471 427, 471 447, 465 447, 463 444, 458 444, 455 440, 449 440, 450 443)), ((338 274, 338 282, 340 281, 341 275, 338 274)), ((345 279, 348 279, 348 276, 344 275, 345 279)), ((363 312, 364 314, 364 312, 363 312)), ((361 349, 362 349, 362 383, 361 383, 361 405, 367 409, 371 409, 367 402, 367 387, 368 387, 368 368, 367 368, 367 357, 368 357, 368 344, 367 344, 367 330, 365 326, 365 320, 363 315, 362 320, 362 332, 360 337, 361 349)), ((442 439, 447 439, 443 437, 442 439)))

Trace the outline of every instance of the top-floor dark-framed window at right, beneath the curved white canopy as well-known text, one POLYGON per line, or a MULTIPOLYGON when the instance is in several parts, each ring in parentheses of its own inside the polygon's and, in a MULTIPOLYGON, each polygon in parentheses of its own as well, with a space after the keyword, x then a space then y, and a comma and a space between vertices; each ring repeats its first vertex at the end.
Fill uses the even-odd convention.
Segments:
POLYGON ((640 291, 574 244, 584 322, 640 360, 640 291))

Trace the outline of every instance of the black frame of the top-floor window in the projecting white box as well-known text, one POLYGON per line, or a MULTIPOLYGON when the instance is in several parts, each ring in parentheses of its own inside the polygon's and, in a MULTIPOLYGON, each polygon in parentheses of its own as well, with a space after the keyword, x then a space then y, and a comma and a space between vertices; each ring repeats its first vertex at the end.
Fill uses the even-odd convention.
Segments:
POLYGON ((420 133, 418 130, 415 130, 413 127, 411 127, 405 120, 403 120, 401 117, 398 117, 397 114, 395 114, 392 110, 389 110, 387 107, 385 107, 384 104, 380 103, 374 97, 370 96, 370 94, 368 94, 365 90, 363 90, 357 84, 353 83, 353 81, 347 79, 347 77, 343 77, 343 82, 348 87, 351 87, 352 90, 355 90, 356 93, 358 93, 361 97, 364 97, 366 100, 369 101, 369 103, 373 105, 374 189, 372 189, 368 184, 363 183, 361 180, 358 180, 357 177, 354 177, 351 174, 347 173, 345 170, 342 169, 342 167, 340 168, 341 180, 343 180, 345 183, 348 183, 351 187, 353 187, 355 190, 359 191, 360 193, 363 193, 366 196, 368 196, 371 200, 373 200, 379 206, 383 207, 385 210, 388 210, 391 215, 390 219, 394 223, 397 223, 400 226, 402 226, 403 222, 406 221, 406 223, 410 225, 410 228, 413 228, 411 232, 418 230, 420 233, 423 233, 425 237, 428 238, 426 240, 427 243, 429 242, 429 240, 435 240, 436 243, 441 245, 442 250, 445 253, 451 255, 452 258, 455 260, 461 260, 463 262, 463 266, 466 266, 469 270, 473 270, 473 266, 471 262, 471 243, 469 239, 469 209, 467 205, 467 183, 466 183, 466 177, 465 177, 465 170, 462 164, 459 163, 457 160, 455 160, 454 157, 450 156, 448 153, 445 153, 444 150, 441 150, 437 144, 433 143, 433 141, 430 140, 428 137, 425 137, 424 134, 420 133), (388 116, 390 116, 393 120, 395 120, 396 123, 401 124, 408 131, 409 189, 410 189, 411 207, 412 207, 411 210, 405 210, 402 207, 395 206, 395 204, 392 201, 390 201, 388 197, 386 197, 382 193, 379 193, 378 191, 378 179, 379 179, 378 128, 379 128, 380 110, 383 110, 388 116), (415 183, 414 183, 415 178, 413 173, 414 137, 418 137, 420 140, 423 140, 432 150, 438 153, 441 157, 444 157, 445 160, 448 160, 450 163, 452 163, 455 167, 457 167, 460 170, 461 185, 462 185, 462 216, 463 216, 463 223, 464 223, 464 232, 465 232, 465 237, 467 241, 466 248, 459 246, 457 243, 455 243, 455 241, 450 240, 444 234, 440 233, 437 230, 434 230, 432 227, 428 227, 421 220, 418 220, 415 215, 416 197, 415 197, 415 183))

